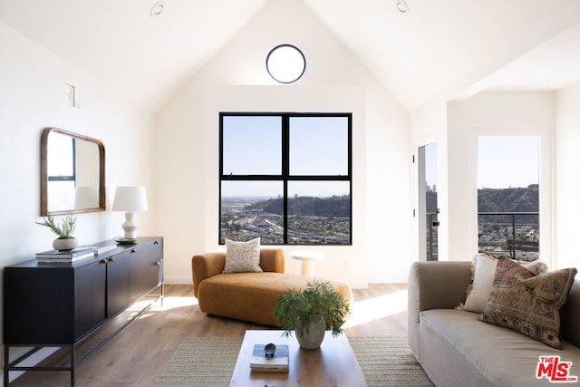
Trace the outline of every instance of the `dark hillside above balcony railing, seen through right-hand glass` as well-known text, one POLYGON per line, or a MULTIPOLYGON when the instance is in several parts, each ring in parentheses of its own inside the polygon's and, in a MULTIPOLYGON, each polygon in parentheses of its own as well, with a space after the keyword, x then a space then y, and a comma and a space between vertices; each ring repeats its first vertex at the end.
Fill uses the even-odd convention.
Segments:
POLYGON ((537 184, 525 189, 478 189, 478 212, 537 212, 537 184))

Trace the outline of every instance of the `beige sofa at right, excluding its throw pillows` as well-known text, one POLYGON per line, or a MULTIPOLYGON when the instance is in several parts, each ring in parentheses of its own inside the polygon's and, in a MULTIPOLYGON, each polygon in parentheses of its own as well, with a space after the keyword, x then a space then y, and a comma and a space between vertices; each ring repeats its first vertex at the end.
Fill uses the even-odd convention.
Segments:
POLYGON ((572 362, 560 376, 580 377, 577 281, 564 306, 560 350, 511 329, 478 321, 478 313, 457 310, 465 302, 471 275, 471 262, 417 262, 411 266, 409 344, 432 382, 440 387, 554 385, 547 366, 536 378, 540 356, 560 356, 560 363, 572 362))

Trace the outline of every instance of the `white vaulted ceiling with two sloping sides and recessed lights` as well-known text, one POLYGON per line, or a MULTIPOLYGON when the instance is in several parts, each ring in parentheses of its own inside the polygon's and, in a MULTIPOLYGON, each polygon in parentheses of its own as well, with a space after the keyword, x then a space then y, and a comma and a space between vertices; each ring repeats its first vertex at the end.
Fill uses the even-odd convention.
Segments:
MULTIPOLYGON (((164 0, 151 18, 157 0, 0 0, 0 21, 155 110, 267 1, 164 0)), ((410 110, 580 82, 577 0, 269 1, 307 5, 410 110)))

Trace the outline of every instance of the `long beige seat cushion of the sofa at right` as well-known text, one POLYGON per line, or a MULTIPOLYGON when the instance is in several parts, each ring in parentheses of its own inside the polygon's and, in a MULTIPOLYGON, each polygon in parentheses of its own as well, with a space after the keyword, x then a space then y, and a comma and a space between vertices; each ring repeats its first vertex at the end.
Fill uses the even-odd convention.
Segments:
POLYGON ((523 334, 478 321, 478 315, 453 309, 420 312, 421 365, 436 385, 549 386, 536 379, 539 356, 572 362, 580 376, 580 348, 563 342, 556 350, 523 334), (449 367, 459 372, 449 372, 449 367))

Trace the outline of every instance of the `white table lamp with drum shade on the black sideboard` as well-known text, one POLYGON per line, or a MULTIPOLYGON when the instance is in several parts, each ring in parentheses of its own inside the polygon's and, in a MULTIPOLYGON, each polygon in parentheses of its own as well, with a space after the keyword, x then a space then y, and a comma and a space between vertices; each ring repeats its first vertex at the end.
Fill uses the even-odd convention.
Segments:
POLYGON ((123 230, 125 230, 123 239, 137 239, 137 227, 139 225, 135 221, 135 212, 147 211, 147 209, 145 187, 117 187, 112 210, 125 211, 125 221, 121 225, 123 230))

